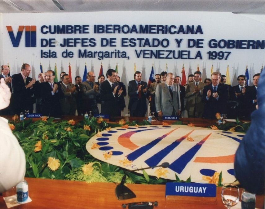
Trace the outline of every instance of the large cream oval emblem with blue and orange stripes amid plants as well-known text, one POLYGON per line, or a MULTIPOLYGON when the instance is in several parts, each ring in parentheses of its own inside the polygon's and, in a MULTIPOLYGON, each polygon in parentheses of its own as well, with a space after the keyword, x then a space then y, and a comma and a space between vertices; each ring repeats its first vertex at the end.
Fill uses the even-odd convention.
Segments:
POLYGON ((91 137, 86 150, 129 170, 170 164, 145 170, 150 176, 176 180, 176 174, 180 180, 191 177, 192 182, 216 184, 222 172, 222 183, 231 183, 236 180, 234 157, 243 137, 242 133, 186 125, 118 127, 91 137))

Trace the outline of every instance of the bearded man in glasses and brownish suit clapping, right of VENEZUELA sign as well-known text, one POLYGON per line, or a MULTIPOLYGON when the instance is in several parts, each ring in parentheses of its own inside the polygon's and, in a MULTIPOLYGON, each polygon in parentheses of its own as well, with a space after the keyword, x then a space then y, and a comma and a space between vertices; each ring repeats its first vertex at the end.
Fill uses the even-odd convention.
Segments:
POLYGON ((194 82, 187 85, 185 98, 186 110, 189 118, 202 118, 204 104, 202 102, 202 93, 205 83, 200 81, 201 72, 194 72, 194 82))

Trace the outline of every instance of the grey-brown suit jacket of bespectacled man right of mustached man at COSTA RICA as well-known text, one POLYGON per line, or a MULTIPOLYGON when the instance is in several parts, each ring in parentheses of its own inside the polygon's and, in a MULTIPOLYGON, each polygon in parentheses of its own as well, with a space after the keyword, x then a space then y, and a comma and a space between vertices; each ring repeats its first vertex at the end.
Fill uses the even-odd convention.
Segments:
POLYGON ((76 99, 75 94, 77 90, 70 93, 70 89, 74 87, 74 84, 69 83, 68 88, 64 84, 61 85, 62 92, 64 93, 64 98, 60 99, 62 114, 63 115, 75 115, 76 111, 76 99))

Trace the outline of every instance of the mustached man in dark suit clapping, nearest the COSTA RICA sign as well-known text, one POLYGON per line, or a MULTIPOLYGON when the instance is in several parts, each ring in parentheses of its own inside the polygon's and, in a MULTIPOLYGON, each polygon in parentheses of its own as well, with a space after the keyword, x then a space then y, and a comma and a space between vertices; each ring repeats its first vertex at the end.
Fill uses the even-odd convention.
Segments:
POLYGON ((61 85, 54 82, 53 70, 46 72, 46 82, 40 84, 40 97, 43 100, 42 115, 61 117, 60 99, 64 97, 61 85))

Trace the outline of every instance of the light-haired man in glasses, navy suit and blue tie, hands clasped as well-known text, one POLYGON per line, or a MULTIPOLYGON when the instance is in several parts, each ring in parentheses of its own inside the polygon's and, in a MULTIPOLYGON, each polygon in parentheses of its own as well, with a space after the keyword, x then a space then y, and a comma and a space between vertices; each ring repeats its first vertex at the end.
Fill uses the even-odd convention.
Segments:
POLYGON ((228 100, 228 90, 220 83, 221 73, 213 72, 211 75, 212 84, 203 89, 202 99, 204 102, 203 116, 214 119, 215 114, 226 114, 226 102, 228 100))

